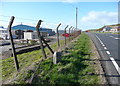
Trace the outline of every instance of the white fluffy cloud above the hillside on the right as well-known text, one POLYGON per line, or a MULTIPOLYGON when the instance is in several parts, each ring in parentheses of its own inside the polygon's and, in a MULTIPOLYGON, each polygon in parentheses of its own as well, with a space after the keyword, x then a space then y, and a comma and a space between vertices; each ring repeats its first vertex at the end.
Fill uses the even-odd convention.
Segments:
POLYGON ((117 24, 118 13, 107 11, 91 11, 81 18, 80 23, 84 28, 98 28, 103 25, 117 24))

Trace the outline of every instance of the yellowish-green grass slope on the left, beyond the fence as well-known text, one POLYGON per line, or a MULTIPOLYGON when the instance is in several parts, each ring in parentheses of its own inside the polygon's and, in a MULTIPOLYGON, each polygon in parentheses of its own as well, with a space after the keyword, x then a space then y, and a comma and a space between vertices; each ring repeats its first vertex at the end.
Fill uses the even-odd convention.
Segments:
MULTIPOLYGON (((64 40, 60 41, 61 46, 64 44, 64 40)), ((57 50, 57 43, 51 45, 51 48, 55 51, 57 50)), ((45 48, 46 54, 49 57, 51 55, 51 52, 45 48)), ((17 72, 14 65, 14 58, 10 57, 4 60, 0 60, 0 67, 2 68, 2 80, 3 82, 8 82, 9 80, 16 79, 20 81, 21 83, 25 81, 26 77, 29 77, 32 75, 32 70, 37 66, 38 62, 42 58, 42 51, 36 50, 24 54, 17 55, 19 66, 20 66, 20 72, 17 72), (30 73, 29 73, 30 72, 30 73)))

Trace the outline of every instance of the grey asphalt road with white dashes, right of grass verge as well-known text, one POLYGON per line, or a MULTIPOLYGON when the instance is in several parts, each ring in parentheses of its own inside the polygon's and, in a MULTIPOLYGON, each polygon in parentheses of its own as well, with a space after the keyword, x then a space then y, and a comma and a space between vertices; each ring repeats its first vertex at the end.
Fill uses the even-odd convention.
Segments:
POLYGON ((120 35, 87 33, 101 56, 100 62, 109 84, 120 85, 120 35))

